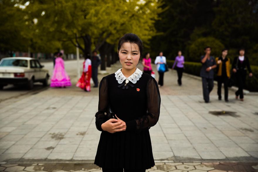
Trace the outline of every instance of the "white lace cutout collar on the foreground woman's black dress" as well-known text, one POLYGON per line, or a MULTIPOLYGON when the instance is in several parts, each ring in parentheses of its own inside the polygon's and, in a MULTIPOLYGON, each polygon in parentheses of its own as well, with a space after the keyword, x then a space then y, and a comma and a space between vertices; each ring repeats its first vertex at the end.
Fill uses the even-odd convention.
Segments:
MULTIPOLYGON (((122 69, 122 68, 121 68, 122 69)), ((115 73, 116 80, 118 81, 118 84, 122 84, 124 80, 127 78, 125 75, 123 75, 121 69, 118 69, 115 73)), ((142 77, 142 71, 138 68, 136 68, 135 72, 131 76, 129 76, 127 79, 131 81, 133 84, 135 84, 140 77, 142 77)))

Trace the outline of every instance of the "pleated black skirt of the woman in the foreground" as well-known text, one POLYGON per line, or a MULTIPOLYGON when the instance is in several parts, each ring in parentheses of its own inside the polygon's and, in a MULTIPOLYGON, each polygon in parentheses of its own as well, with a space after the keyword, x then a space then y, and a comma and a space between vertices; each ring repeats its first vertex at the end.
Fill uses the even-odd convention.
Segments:
POLYGON ((122 131, 100 136, 95 162, 104 168, 149 169, 155 165, 150 133, 122 131))

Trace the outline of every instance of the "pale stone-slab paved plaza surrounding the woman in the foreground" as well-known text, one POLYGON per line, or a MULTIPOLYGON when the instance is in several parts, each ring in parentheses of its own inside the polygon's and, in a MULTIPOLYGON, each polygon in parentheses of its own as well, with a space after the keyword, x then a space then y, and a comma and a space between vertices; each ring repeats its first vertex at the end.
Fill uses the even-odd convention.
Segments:
MULTIPOLYGON (((118 68, 116 63, 107 72, 118 68)), ((141 65, 138 68, 142 70, 141 65)), ((75 87, 74 73, 69 75, 72 87, 49 88, 0 103, 0 171, 101 171, 92 164, 101 134, 94 117, 98 88, 84 92, 75 87)), ((206 104, 199 79, 183 75, 181 87, 176 80, 175 71, 166 72, 164 87, 159 87, 160 117, 150 128, 156 162, 151 170, 255 171, 258 96, 245 95, 240 102, 230 90, 226 103, 218 100, 215 85, 206 104)))

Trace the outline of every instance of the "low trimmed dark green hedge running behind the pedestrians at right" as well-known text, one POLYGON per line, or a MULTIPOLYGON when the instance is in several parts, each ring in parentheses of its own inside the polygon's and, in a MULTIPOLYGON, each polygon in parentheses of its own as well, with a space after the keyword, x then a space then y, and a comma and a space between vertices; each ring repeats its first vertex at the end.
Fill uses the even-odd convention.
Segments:
MULTIPOLYGON (((172 68, 174 60, 167 60, 167 64, 169 68, 172 68)), ((200 76, 201 62, 185 62, 184 67, 184 72, 189 73, 191 75, 200 76)), ((253 72, 253 76, 247 76, 245 89, 252 92, 258 92, 258 66, 251 65, 251 69, 253 72)))

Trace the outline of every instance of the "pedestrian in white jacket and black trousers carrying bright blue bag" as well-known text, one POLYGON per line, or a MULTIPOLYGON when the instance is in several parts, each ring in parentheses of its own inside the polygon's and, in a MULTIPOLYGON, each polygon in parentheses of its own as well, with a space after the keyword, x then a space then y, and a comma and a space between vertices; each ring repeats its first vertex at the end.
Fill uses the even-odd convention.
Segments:
POLYGON ((163 86, 163 79, 164 79, 164 72, 165 72, 165 65, 167 63, 166 57, 163 56, 163 52, 159 53, 159 56, 155 59, 155 65, 157 65, 157 71, 159 72, 159 86, 163 86))

